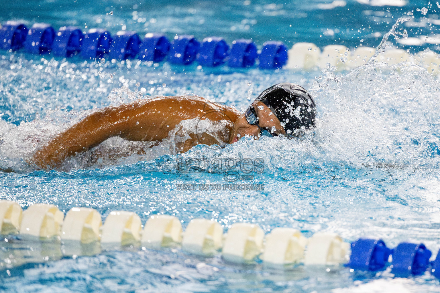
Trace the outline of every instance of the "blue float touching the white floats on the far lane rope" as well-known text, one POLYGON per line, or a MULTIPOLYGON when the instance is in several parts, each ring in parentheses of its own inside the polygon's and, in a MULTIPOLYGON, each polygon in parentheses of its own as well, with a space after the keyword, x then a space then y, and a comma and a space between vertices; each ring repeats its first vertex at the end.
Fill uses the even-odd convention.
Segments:
POLYGON ((281 68, 287 62, 287 47, 284 43, 278 41, 269 41, 263 44, 260 56, 260 68, 277 69, 281 68))

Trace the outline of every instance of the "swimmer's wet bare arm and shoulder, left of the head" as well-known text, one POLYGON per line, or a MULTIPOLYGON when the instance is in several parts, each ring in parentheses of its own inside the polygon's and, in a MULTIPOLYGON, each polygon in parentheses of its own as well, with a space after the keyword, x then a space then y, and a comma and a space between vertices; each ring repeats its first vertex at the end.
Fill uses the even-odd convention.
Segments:
MULTIPOLYGON (((190 100, 169 97, 106 107, 82 119, 52 139, 48 145, 37 150, 33 162, 41 169, 51 169, 75 155, 75 152, 86 151, 113 136, 131 141, 162 141, 168 136, 169 130, 176 127, 181 120, 204 116, 206 101, 202 98, 190 100)), ((222 111, 226 112, 232 121, 238 116, 235 110, 228 107, 222 111)), ((218 118, 212 115, 209 118, 224 119, 224 115, 220 114, 218 118)), ((184 142, 182 152, 186 152, 198 143, 208 145, 215 143, 209 141, 210 137, 201 142, 198 142, 196 137, 190 140, 184 142)))

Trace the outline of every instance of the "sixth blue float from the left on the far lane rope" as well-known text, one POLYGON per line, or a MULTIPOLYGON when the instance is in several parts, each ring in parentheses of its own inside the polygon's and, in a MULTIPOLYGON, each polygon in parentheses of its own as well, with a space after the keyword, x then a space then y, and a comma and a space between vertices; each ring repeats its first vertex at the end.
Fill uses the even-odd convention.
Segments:
POLYGON ((169 52, 171 43, 161 33, 147 33, 139 47, 138 59, 142 61, 160 62, 169 52))

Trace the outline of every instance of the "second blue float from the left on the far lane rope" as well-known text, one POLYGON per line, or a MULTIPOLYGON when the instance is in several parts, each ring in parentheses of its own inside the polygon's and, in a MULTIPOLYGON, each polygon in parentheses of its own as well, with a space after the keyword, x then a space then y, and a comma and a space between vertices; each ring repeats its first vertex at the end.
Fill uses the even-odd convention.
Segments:
POLYGON ((34 23, 29 29, 25 50, 32 54, 47 54, 51 51, 55 40, 55 29, 47 23, 34 23))

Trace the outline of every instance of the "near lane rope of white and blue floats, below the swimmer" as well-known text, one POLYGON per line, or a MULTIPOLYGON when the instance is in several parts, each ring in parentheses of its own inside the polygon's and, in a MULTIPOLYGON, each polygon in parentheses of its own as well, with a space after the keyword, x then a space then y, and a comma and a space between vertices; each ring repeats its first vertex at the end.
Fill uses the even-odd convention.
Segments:
POLYGON ((418 242, 401 242, 390 249, 381 239, 360 238, 350 244, 328 232, 316 232, 307 239, 294 228, 274 228, 265 235, 257 224, 245 222, 232 224, 224 234, 218 222, 207 219, 193 219, 183 231, 181 221, 170 215, 153 215, 142 228, 140 217, 128 211, 110 212, 103 224, 92 208, 73 207, 64 216, 55 205, 34 204, 23 211, 9 200, 0 200, 0 224, 0 234, 18 234, 23 241, 61 239, 71 246, 140 245, 143 250, 180 247, 205 257, 221 253, 226 262, 238 264, 344 265, 362 271, 391 268, 396 277, 428 270, 440 279, 440 253, 430 261, 431 251, 418 242))

